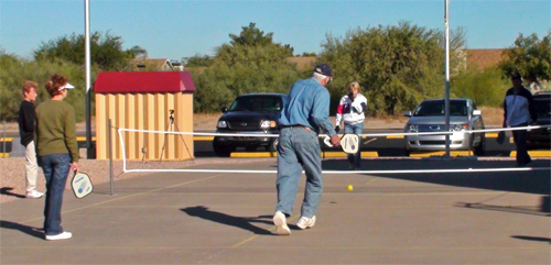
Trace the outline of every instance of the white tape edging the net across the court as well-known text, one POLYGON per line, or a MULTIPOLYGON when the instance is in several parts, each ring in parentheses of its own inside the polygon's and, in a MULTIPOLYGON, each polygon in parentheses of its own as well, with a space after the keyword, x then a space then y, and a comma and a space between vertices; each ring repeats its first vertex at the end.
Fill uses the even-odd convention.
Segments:
MULTIPOLYGON (((495 133, 495 132, 507 132, 515 130, 536 130, 545 129, 550 125, 531 125, 531 126, 519 126, 519 128, 501 128, 501 129, 486 129, 486 130, 471 130, 471 131, 460 131, 460 132, 423 132, 423 133, 365 133, 358 134, 361 136, 406 136, 406 135, 442 135, 442 134, 454 134, 454 133, 495 133)), ((277 170, 235 170, 235 169, 193 169, 193 168, 174 168, 174 169, 128 169, 127 168, 127 154, 125 147, 123 132, 134 132, 134 133, 153 133, 153 134, 172 134, 172 135, 194 135, 194 136, 249 136, 249 137, 278 137, 278 134, 247 134, 247 133, 205 133, 205 132, 171 132, 171 131, 152 131, 152 130, 137 130, 137 129, 118 129, 119 140, 121 144, 121 152, 123 157, 122 170, 123 173, 240 173, 240 174, 276 174, 277 170)), ((320 137, 325 137, 326 134, 320 134, 320 137)), ((396 163, 396 162, 395 162, 396 163)), ((489 173, 489 172, 533 172, 533 170, 550 170, 550 167, 507 167, 507 168, 446 168, 446 169, 401 169, 401 170, 323 170, 323 174, 428 174, 428 173, 489 173)))

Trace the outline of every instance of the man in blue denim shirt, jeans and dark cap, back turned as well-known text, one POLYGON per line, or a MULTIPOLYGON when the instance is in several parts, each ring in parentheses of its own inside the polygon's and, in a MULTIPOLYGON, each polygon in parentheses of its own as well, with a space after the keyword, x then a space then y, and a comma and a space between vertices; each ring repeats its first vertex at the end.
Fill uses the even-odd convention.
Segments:
POLYGON ((322 155, 318 141, 320 131, 331 136, 334 146, 341 145, 328 119, 329 92, 325 88, 332 78, 327 64, 317 65, 312 78, 293 84, 289 92, 289 103, 282 112, 278 144, 278 206, 273 216, 277 233, 291 234, 287 224, 293 211, 299 179, 304 169, 306 187, 302 201, 301 218, 296 222, 300 229, 315 224, 315 213, 322 196, 322 155))

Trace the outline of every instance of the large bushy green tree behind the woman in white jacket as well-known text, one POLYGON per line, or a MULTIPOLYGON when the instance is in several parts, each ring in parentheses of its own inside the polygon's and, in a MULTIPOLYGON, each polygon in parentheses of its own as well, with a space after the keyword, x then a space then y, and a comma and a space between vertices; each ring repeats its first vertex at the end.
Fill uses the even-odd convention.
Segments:
MULTIPOLYGON (((451 55, 464 45, 464 31, 451 38, 451 55)), ((395 114, 412 109, 425 98, 444 95, 443 34, 437 30, 400 22, 350 30, 345 37, 326 36, 318 60, 334 68, 329 85, 333 108, 347 92, 350 81, 358 81, 369 101, 368 113, 395 114)), ((452 57, 452 66, 458 57, 452 57)))

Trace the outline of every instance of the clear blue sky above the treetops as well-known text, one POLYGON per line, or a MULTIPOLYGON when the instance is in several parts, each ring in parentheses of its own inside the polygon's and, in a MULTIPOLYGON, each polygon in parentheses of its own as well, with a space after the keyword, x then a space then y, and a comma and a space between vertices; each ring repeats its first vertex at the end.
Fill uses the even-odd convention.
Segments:
MULTIPOLYGON (((326 34, 396 25, 444 29, 444 0, 89 0, 90 31, 121 36, 150 58, 212 55, 228 34, 255 22, 295 54, 321 52, 326 34)), ((0 46, 30 58, 41 43, 84 34, 84 0, 0 0, 0 46)), ((551 0, 450 0, 450 27, 466 30, 468 48, 512 46, 519 33, 551 29, 551 0)))

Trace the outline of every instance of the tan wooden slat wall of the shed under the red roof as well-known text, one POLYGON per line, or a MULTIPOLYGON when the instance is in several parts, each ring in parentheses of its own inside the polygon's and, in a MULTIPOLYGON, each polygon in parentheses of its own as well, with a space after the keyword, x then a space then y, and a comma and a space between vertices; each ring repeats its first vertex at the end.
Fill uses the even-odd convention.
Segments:
MULTIPOLYGON (((112 125, 112 158, 122 159, 122 145, 117 132, 119 128, 193 132, 193 93, 96 93, 97 159, 109 158, 109 119, 112 125), (174 110, 174 122, 170 126, 169 110, 174 110)), ((127 159, 130 161, 194 158, 193 135, 125 132, 122 139, 127 159)))

